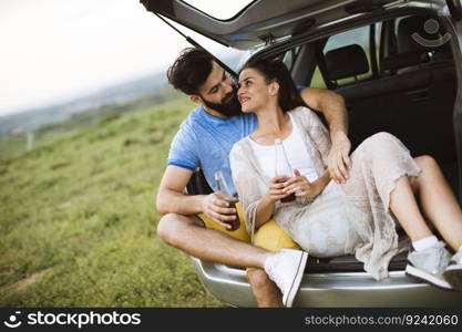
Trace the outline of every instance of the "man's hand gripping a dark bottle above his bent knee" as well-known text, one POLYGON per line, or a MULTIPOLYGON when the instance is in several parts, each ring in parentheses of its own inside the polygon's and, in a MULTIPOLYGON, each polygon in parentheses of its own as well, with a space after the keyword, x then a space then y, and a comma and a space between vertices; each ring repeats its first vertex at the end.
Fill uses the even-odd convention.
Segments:
POLYGON ((203 200, 203 214, 215 222, 232 229, 230 222, 236 219, 236 209, 229 208, 232 200, 225 194, 212 193, 203 200))

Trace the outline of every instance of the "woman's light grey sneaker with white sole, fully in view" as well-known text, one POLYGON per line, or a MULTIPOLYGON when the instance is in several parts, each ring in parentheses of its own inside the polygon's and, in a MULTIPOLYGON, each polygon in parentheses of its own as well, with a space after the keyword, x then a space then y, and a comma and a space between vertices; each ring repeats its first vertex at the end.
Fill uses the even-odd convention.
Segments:
POLYGON ((451 284, 443 277, 451 258, 444 246, 444 242, 439 241, 425 250, 409 253, 405 273, 433 286, 452 289, 451 284))

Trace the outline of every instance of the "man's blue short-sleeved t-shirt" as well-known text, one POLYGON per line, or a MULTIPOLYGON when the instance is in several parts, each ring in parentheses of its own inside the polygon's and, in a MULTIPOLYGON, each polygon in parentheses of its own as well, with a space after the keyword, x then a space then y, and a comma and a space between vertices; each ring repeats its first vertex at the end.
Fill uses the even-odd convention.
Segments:
POLYGON ((203 106, 193 110, 173 138, 167 164, 195 170, 201 167, 212 189, 216 190, 215 172, 222 170, 233 193, 228 155, 233 145, 257 127, 253 113, 228 118, 208 114, 203 106))

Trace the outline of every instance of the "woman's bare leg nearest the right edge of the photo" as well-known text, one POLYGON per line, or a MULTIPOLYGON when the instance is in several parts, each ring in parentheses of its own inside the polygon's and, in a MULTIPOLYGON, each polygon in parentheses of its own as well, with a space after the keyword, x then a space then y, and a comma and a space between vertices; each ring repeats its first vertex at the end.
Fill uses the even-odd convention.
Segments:
POLYGON ((438 163, 430 156, 414 158, 422 173, 414 186, 427 219, 455 251, 462 246, 462 210, 438 163))

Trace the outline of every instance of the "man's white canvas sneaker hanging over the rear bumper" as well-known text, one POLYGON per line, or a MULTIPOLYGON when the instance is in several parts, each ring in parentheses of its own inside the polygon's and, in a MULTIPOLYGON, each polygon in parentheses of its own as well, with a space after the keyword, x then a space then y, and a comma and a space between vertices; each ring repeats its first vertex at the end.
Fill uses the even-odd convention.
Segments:
POLYGON ((283 292, 285 307, 292 305, 304 277, 308 253, 301 250, 281 249, 265 261, 265 271, 283 292))

